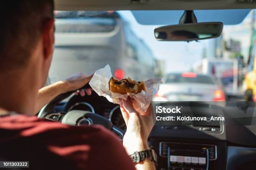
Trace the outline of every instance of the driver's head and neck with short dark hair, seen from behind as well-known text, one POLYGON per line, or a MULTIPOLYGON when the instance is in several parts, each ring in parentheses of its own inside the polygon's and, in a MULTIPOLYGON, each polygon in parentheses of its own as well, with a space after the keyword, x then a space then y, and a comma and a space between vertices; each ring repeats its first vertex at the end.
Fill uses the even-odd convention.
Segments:
POLYGON ((20 89, 37 92, 46 81, 54 50, 54 2, 10 0, 1 6, 0 82, 5 84, 0 83, 0 90, 17 81, 20 89))

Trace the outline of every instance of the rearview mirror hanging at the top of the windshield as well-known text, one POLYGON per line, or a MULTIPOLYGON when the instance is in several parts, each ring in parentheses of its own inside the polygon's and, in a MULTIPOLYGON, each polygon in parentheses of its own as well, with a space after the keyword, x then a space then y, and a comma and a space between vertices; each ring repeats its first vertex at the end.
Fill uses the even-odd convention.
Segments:
POLYGON ((168 25, 154 30, 156 40, 160 41, 197 41, 219 37, 223 24, 213 23, 185 23, 168 25))

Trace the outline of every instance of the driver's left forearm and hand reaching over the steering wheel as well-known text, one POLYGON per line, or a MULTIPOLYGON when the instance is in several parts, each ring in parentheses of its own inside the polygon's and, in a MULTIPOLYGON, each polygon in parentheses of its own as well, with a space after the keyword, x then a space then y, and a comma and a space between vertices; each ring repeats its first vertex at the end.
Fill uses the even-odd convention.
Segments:
MULTIPOLYGON (((69 91, 77 90, 84 85, 86 85, 92 78, 92 75, 87 77, 86 75, 79 73, 72 77, 67 78, 67 80, 58 81, 52 85, 46 86, 38 90, 38 97, 36 101, 35 114, 41 110, 44 105, 53 100, 56 96, 66 93, 69 91)), ((90 89, 80 90, 82 96, 91 94, 90 89)), ((77 94, 77 93, 76 93, 77 94)))

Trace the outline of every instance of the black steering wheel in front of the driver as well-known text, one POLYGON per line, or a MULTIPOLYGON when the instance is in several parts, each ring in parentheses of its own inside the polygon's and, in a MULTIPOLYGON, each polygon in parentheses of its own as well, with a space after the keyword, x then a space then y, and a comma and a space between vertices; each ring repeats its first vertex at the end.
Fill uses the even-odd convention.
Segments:
MULTIPOLYGON (((81 89, 85 88, 91 88, 89 84, 84 85, 81 89)), ((79 90, 81 90, 79 89, 79 90)), ((74 126, 84 126, 84 125, 102 125, 105 128, 113 131, 120 140, 123 140, 124 136, 124 131, 121 130, 120 128, 116 127, 113 125, 113 123, 108 120, 107 118, 98 115, 93 112, 88 112, 85 110, 70 110, 66 112, 64 115, 58 113, 57 111, 54 110, 54 106, 64 100, 65 98, 69 97, 72 95, 75 91, 70 91, 61 95, 58 95, 55 97, 51 102, 49 102, 47 105, 45 105, 40 112, 38 113, 38 118, 43 118, 43 119, 50 119, 50 117, 56 117, 50 120, 53 121, 59 121, 63 124, 67 125, 74 125, 74 126)))

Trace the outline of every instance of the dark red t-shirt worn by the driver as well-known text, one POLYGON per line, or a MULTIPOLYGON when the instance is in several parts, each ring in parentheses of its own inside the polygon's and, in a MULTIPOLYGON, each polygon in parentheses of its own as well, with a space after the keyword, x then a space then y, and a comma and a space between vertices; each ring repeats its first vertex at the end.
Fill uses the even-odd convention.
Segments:
POLYGON ((0 117, 1 160, 29 161, 33 170, 135 170, 120 140, 102 126, 26 115, 0 117))

